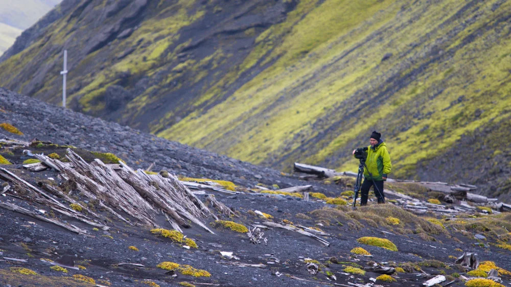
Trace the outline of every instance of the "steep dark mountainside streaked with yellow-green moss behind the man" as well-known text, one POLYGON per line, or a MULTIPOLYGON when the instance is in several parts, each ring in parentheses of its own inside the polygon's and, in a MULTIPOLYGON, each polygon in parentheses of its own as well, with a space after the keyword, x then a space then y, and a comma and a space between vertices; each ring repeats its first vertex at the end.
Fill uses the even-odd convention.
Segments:
POLYGON ((75 110, 280 169, 354 169, 350 151, 378 129, 394 177, 449 174, 499 195, 511 173, 510 8, 86 0, 1 58, 0 85, 58 104, 65 47, 75 110))

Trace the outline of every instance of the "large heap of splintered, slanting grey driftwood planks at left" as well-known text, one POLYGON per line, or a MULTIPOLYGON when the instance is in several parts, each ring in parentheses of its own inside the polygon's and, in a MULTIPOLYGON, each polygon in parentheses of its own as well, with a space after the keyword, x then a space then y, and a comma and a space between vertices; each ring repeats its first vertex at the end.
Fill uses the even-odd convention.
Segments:
MULTIPOLYGON (((99 202, 101 208, 108 210, 126 224, 133 225, 136 223, 132 223, 132 221, 123 216, 121 214, 123 212, 142 224, 159 227, 156 223, 155 215, 161 212, 167 217, 172 228, 175 230, 181 231, 181 227, 190 227, 189 222, 191 222, 208 232, 214 233, 201 219, 211 217, 217 220, 218 218, 187 186, 183 185, 173 175, 169 174, 168 177, 162 177, 159 174, 148 175, 142 170, 133 171, 122 162, 120 164, 105 164, 101 160, 95 159, 91 163, 87 163, 71 149, 68 149, 66 154, 69 162, 61 162, 44 155, 33 155, 33 157, 41 161, 38 166, 58 171, 58 177, 66 181, 68 186, 73 186, 71 193, 80 194, 89 200, 99 202), (115 211, 114 209, 123 212, 115 211)), ((73 217, 97 228, 104 230, 108 228, 99 224, 100 220, 97 214, 89 210, 87 206, 83 206, 83 204, 73 200, 71 193, 65 194, 59 188, 45 183, 41 183, 41 188, 38 188, 6 169, 0 169, 0 179, 36 194, 36 196, 29 197, 9 193, 11 196, 45 205, 61 214, 73 217), (87 210, 87 214, 96 219, 84 216, 83 213, 60 203, 52 195, 69 202, 69 204, 79 205, 82 209, 87 210)), ((0 190, 0 192, 5 193, 10 187, 4 189, 7 190, 0 190)), ((227 215, 235 215, 225 205, 216 200, 214 196, 210 196, 207 199, 207 203, 213 208, 227 215)), ((13 204, 2 203, 0 207, 21 212, 47 222, 55 221, 51 223, 59 226, 64 225, 56 220, 41 217, 39 214, 19 206, 14 206, 13 204)), ((77 233, 87 233, 86 230, 72 225, 71 227, 65 225, 65 228, 77 233)))

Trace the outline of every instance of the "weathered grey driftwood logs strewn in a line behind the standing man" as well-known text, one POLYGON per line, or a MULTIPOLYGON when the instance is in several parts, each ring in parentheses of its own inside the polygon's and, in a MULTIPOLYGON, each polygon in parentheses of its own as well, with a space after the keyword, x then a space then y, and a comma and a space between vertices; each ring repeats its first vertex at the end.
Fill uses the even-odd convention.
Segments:
MULTIPOLYGON (((357 174, 353 172, 336 172, 335 170, 329 170, 325 168, 321 168, 319 166, 303 164, 303 163, 294 163, 294 171, 298 173, 305 173, 307 175, 300 176, 302 179, 312 180, 312 179, 323 179, 323 178, 332 178, 335 176, 353 176, 356 177, 357 174)), ((453 203, 457 205, 462 205, 463 207, 470 208, 468 204, 464 204, 463 202, 469 201, 477 204, 483 204, 484 206, 491 207, 498 211, 511 211, 511 205, 505 204, 502 202, 498 202, 496 198, 487 198, 485 196, 477 195, 473 192, 477 189, 477 186, 470 184, 448 184, 445 182, 424 182, 424 181, 414 181, 414 180, 396 180, 396 179, 387 179, 388 182, 405 182, 405 183, 415 183, 422 185, 429 190, 434 192, 444 193, 444 201, 447 203, 453 203)), ((386 190, 387 192, 387 190, 386 190)), ((396 193, 397 194, 397 193, 396 193)), ((399 195, 398 195, 399 196, 399 195)), ((403 199, 411 200, 411 197, 404 197, 403 199)))

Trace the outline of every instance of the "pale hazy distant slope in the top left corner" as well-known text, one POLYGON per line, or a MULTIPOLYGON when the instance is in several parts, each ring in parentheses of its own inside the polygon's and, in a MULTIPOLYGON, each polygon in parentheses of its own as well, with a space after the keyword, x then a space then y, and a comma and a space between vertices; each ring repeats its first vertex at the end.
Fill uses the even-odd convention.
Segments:
POLYGON ((17 0, 0 2, 0 55, 39 18, 61 0, 17 0))

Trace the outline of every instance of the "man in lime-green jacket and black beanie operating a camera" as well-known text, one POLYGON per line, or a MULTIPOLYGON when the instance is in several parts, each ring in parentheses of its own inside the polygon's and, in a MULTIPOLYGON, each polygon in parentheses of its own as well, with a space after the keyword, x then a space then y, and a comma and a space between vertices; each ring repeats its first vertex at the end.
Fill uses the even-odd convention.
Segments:
POLYGON ((369 142, 371 145, 367 147, 366 167, 364 168, 364 182, 360 188, 360 205, 367 205, 367 197, 369 196, 369 188, 373 187, 378 203, 384 203, 385 195, 383 194, 383 182, 387 180, 392 164, 390 163, 390 155, 387 151, 387 145, 381 139, 381 133, 374 131, 371 133, 369 142))

